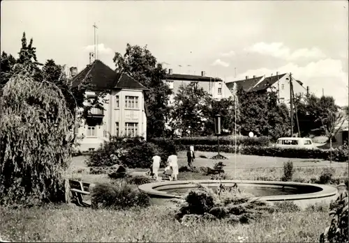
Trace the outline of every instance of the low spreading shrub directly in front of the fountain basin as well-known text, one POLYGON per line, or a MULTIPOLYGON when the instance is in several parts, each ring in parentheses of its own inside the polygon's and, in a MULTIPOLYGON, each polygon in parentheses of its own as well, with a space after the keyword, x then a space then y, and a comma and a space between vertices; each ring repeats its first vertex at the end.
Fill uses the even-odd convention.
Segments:
MULTIPOLYGON (((236 185, 235 185, 236 186, 236 185)), ((237 187, 237 186, 236 186, 237 187)), ((207 187, 198 185, 191 190, 179 204, 176 218, 181 224, 201 219, 225 219, 230 223, 248 224, 255 219, 265 216, 265 212, 273 212, 272 205, 249 194, 223 185, 218 186, 218 193, 207 187)))

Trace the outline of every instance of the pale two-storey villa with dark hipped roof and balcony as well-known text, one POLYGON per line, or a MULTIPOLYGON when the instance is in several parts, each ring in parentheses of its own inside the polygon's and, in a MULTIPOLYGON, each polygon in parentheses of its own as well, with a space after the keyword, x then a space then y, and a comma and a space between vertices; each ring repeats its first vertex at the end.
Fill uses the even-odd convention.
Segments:
POLYGON ((96 150, 110 136, 143 136, 146 139, 144 92, 148 89, 129 75, 114 72, 99 60, 73 77, 73 88, 87 77, 94 88, 85 93, 85 106, 91 106, 89 100, 96 97, 96 92, 104 91, 106 95, 100 100, 104 109, 91 106, 87 117, 80 119, 75 130, 75 135, 82 137, 80 150, 96 150))

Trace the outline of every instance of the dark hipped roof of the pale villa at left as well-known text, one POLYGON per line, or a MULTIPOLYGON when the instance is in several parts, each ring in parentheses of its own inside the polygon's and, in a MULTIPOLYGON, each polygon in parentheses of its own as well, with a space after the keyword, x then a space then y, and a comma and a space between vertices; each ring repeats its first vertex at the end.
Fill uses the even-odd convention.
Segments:
POLYGON ((84 70, 79 72, 72 80, 72 87, 77 87, 84 79, 91 75, 91 86, 94 88, 129 88, 147 91, 148 89, 135 81, 126 73, 117 73, 102 61, 96 60, 90 65, 87 65, 84 70))

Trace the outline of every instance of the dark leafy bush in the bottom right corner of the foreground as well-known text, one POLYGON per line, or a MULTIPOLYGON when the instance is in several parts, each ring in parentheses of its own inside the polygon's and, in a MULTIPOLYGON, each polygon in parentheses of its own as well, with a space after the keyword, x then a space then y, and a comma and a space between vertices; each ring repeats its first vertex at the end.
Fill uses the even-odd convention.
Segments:
POLYGON ((320 242, 348 242, 348 203, 348 191, 343 191, 329 212, 331 224, 320 235, 320 242))

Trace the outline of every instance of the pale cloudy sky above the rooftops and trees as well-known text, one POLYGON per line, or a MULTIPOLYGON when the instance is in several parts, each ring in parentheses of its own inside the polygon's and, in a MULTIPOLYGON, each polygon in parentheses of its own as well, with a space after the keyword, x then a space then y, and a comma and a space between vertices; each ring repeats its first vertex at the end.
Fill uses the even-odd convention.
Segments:
POLYGON ((25 31, 38 61, 80 71, 95 22, 98 59, 112 69, 127 43, 147 45, 173 73, 228 82, 292 72, 348 105, 348 1, 1 1, 1 52, 17 56, 25 31))

